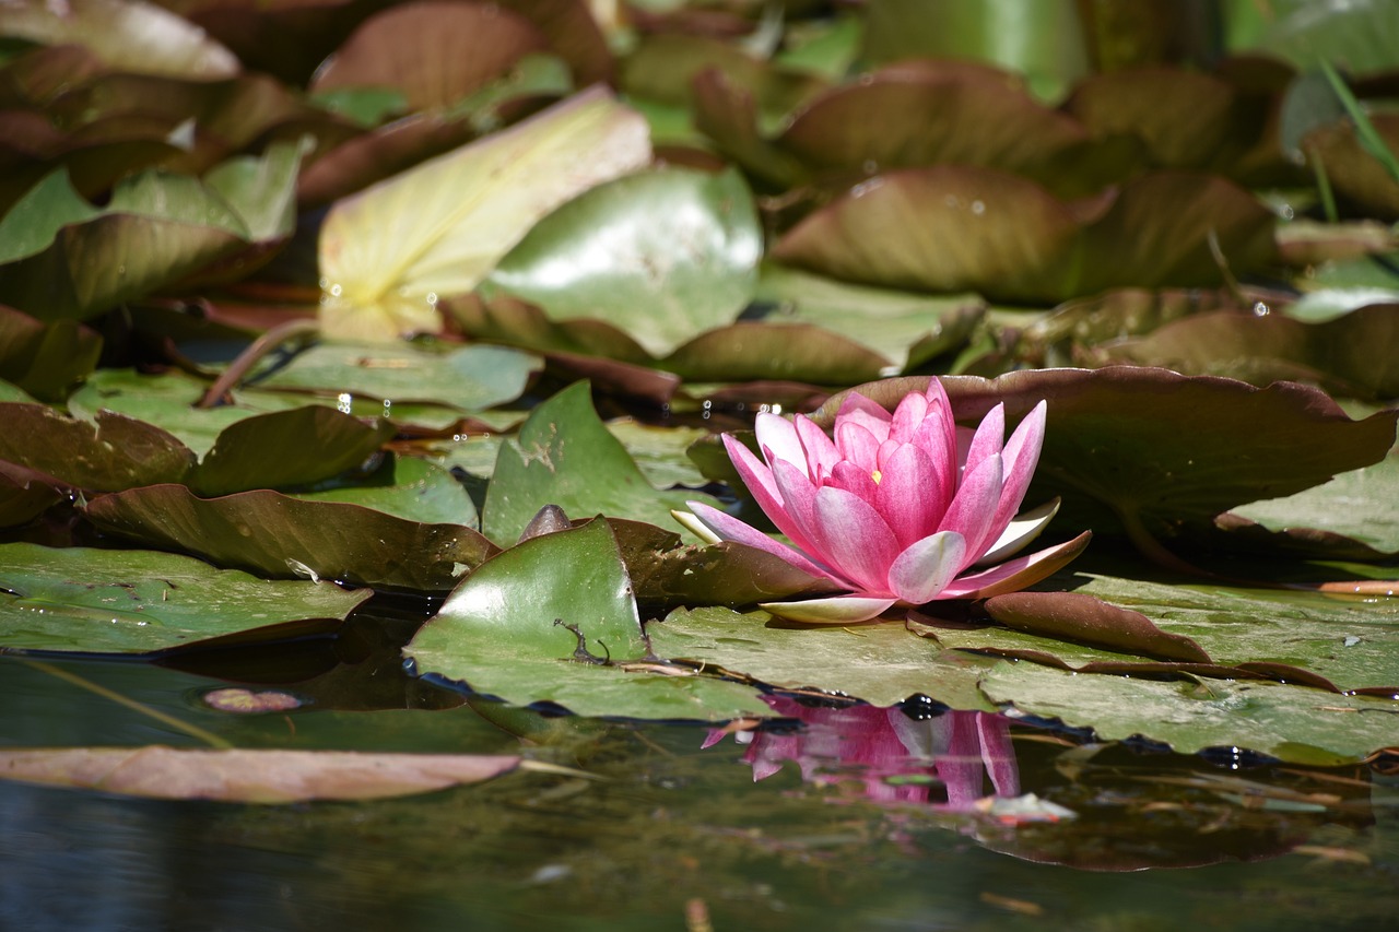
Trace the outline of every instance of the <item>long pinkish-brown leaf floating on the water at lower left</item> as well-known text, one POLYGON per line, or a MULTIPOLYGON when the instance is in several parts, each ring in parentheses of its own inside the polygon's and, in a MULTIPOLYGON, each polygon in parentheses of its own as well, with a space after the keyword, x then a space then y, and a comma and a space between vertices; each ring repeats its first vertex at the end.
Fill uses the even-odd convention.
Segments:
POLYGON ((292 803, 435 792, 478 784, 525 763, 488 754, 21 747, 0 750, 0 777, 152 799, 292 803))

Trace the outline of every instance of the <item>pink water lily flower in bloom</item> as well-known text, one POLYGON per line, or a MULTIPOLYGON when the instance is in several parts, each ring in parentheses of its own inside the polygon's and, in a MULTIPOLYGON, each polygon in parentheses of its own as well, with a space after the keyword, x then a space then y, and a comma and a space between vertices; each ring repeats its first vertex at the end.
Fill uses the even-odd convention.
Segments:
POLYGON ((800 414, 760 414, 762 459, 725 435, 744 484, 792 546, 702 502, 676 518, 708 542, 765 550, 849 595, 762 607, 796 621, 849 624, 894 605, 988 598, 1028 586, 1076 557, 1088 535, 1007 560, 1053 518, 1058 500, 1016 516, 1039 460, 1045 403, 1004 441, 1004 407, 958 428, 942 382, 893 414, 851 393, 834 439, 800 414), (765 460, 765 462, 764 462, 765 460))

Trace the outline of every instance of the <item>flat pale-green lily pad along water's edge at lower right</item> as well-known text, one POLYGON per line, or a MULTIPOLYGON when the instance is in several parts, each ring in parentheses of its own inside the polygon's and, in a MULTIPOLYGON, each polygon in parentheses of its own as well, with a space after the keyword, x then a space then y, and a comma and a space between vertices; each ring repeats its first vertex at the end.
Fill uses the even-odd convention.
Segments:
POLYGON ((981 687, 995 702, 1091 728, 1102 740, 1142 735, 1182 754, 1241 747, 1295 764, 1337 765, 1399 742, 1399 702, 1295 686, 1074 676, 1003 663, 981 687))

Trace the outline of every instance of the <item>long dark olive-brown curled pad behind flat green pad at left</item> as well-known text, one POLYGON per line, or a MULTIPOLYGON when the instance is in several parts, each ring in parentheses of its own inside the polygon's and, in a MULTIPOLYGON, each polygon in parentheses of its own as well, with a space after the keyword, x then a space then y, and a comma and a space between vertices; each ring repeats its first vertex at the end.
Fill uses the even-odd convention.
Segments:
POLYGON ((360 505, 274 491, 199 498, 148 486, 90 501, 102 530, 274 579, 311 574, 351 585, 446 592, 495 547, 457 523, 425 525, 360 505))

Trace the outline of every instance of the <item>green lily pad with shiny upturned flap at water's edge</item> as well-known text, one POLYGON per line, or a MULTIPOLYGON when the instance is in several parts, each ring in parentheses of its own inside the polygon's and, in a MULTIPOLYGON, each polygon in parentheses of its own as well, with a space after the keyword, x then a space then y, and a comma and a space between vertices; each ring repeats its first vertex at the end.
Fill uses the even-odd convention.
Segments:
POLYGON ((769 714, 751 687, 649 662, 604 521, 491 558, 404 654, 420 675, 518 705, 551 701, 579 715, 711 721, 769 714), (624 661, 634 663, 618 665, 624 661))

